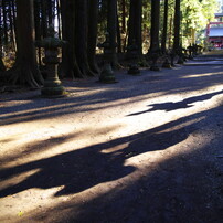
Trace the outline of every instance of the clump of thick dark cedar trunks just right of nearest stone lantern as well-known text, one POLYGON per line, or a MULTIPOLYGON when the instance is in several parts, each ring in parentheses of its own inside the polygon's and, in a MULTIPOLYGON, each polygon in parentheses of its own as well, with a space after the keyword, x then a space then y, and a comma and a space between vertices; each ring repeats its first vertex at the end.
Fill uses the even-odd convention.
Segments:
POLYGON ((61 1, 62 34, 63 39, 67 41, 67 44, 63 47, 62 73, 64 76, 83 78, 93 76, 94 72, 97 72, 94 64, 97 12, 92 12, 95 22, 89 22, 89 19, 87 19, 88 7, 97 10, 95 3, 88 0, 61 1), (92 26, 89 28, 89 25, 92 26), (92 29, 95 29, 94 32, 91 32, 92 29))

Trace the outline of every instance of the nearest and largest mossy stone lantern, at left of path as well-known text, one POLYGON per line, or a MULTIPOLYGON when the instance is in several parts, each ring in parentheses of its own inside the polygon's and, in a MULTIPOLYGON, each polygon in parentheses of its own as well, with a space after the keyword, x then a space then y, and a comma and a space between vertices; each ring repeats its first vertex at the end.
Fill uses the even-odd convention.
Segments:
POLYGON ((66 95, 65 88, 61 85, 61 81, 57 75, 57 65, 61 62, 59 57, 59 49, 65 44, 55 38, 55 31, 53 26, 49 28, 47 38, 42 41, 36 41, 35 45, 44 49, 45 57, 43 57, 43 63, 46 66, 46 79, 41 89, 43 97, 62 97, 66 95))

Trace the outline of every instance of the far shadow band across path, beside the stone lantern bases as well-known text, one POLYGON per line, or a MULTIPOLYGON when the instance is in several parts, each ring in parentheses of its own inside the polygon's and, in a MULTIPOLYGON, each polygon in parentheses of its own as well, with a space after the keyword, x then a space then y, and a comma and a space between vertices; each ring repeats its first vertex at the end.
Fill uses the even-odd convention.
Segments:
MULTIPOLYGON (((189 68, 190 74, 191 70, 189 68)), ((173 71, 172 71, 173 72, 173 71)), ((78 95, 78 84, 72 85, 70 91, 73 96, 61 99, 44 99, 36 97, 40 93, 33 93, 33 96, 26 98, 21 96, 11 96, 12 100, 23 100, 26 103, 19 103, 15 106, 3 106, 0 108, 0 121, 1 125, 11 125, 21 121, 32 121, 45 119, 49 117, 61 117, 70 114, 91 113, 105 108, 102 104, 112 103, 119 99, 128 99, 127 103, 134 103, 139 98, 137 96, 149 97, 152 93, 160 93, 160 95, 178 94, 182 92, 200 91, 210 86, 219 85, 222 82, 222 67, 203 70, 197 68, 190 77, 188 77, 188 67, 183 67, 183 71, 174 71, 174 75, 164 75, 166 71, 162 71, 161 76, 153 75, 151 73, 145 73, 141 77, 135 77, 129 79, 123 79, 123 82, 113 86, 103 86, 102 84, 91 83, 92 93, 78 95), (199 76, 201 74, 201 76, 199 76), (193 77, 194 76, 194 77, 193 77), (153 81, 155 78, 155 81, 153 81), (193 82, 191 82, 193 78, 193 82), (126 82, 126 83, 125 83, 126 82), (174 83, 174 85, 172 84, 174 83), (192 84, 191 84, 192 83, 192 84), (138 86, 144 87, 138 87, 138 86), (99 91, 105 88, 105 91, 99 91), (95 107, 83 107, 86 105, 98 105, 95 107)), ((124 75, 123 75, 124 76, 124 75)), ((127 78, 127 77, 125 77, 127 78)), ((83 87, 83 84, 79 84, 83 87)), ((89 84, 88 84, 89 85, 89 84)), ((87 85, 87 87, 88 87, 87 85)), ((84 85, 85 86, 85 85, 84 85)), ((84 88, 84 87, 83 87, 84 88)), ((85 91, 83 89, 82 91, 85 91)), ((202 96, 201 96, 202 97, 202 96)), ((199 98, 198 98, 199 99, 199 98)), ((202 98, 200 98, 202 99, 202 98)), ((10 98, 0 99, 0 104, 10 100, 10 98)), ((182 102, 187 104, 187 102, 182 102)), ((123 105, 123 102, 120 103, 123 105)), ((107 105, 106 108, 112 108, 116 105, 107 105)), ((180 105, 179 105, 180 106, 180 105)), ((170 105, 171 107, 171 105, 170 105)))

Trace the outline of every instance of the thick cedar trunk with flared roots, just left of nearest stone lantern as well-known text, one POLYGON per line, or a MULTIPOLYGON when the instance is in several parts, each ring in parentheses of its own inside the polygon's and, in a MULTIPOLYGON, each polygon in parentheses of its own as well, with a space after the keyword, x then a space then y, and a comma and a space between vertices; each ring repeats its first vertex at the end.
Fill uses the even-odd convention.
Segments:
POLYGON ((39 87, 43 78, 38 68, 34 47, 33 0, 17 0, 17 60, 9 71, 13 84, 39 87))

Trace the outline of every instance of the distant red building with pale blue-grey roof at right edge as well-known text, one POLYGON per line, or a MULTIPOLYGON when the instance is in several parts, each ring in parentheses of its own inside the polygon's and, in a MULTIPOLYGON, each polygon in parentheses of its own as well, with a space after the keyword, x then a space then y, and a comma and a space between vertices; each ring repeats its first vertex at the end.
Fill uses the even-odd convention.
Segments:
POLYGON ((209 22, 206 39, 214 47, 223 47, 223 13, 215 13, 215 21, 209 22))

